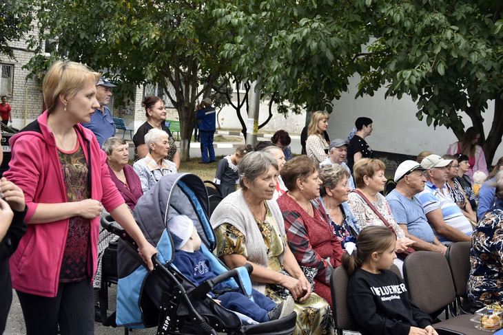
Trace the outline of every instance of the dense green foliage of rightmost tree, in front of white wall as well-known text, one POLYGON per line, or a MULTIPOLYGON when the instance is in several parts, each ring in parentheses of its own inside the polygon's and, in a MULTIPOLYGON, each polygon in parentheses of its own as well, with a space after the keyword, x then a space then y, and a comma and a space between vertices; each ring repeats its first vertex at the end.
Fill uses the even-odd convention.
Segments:
MULTIPOLYGON (((408 94, 417 103, 419 120, 444 125, 458 138, 464 134, 461 112, 484 137, 482 113, 495 99, 494 122, 484 149, 488 162, 503 134, 503 33, 497 0, 358 0, 374 37, 358 96, 382 86, 386 96, 408 94)), ((360 68, 362 68, 360 67, 360 68)), ((471 125, 468 125, 468 127, 471 125)))

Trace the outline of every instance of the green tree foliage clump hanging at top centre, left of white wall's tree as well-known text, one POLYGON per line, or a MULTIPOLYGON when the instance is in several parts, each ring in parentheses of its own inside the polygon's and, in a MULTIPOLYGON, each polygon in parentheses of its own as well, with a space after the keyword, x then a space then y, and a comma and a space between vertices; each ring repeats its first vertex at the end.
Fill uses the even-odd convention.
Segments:
POLYGON ((369 41, 365 21, 350 1, 250 0, 214 10, 238 31, 223 47, 244 81, 260 77, 266 96, 309 109, 332 109, 358 69, 353 57, 369 41))

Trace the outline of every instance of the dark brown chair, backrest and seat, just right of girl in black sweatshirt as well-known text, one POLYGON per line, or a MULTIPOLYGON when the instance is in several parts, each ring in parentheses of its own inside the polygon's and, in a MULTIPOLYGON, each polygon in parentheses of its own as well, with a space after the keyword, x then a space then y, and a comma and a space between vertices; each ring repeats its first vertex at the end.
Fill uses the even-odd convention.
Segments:
MULTIPOLYGON (((427 314, 449 310, 449 305, 455 301, 455 290, 446 257, 438 252, 419 250, 407 256, 403 270, 405 285, 415 305, 427 314)), ((470 335, 491 334, 475 328, 472 317, 471 314, 461 314, 449 318, 446 312, 446 320, 435 323, 433 327, 440 328, 442 334, 449 334, 446 333, 448 331, 470 335)))

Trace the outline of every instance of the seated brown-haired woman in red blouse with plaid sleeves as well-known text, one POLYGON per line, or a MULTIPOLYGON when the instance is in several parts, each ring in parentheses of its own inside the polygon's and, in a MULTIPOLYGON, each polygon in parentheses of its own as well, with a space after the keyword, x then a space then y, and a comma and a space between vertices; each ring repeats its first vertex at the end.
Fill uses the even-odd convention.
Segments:
POLYGON ((327 213, 318 202, 321 180, 306 155, 289 160, 281 170, 288 192, 278 198, 285 219, 288 246, 305 270, 317 270, 314 291, 332 306, 330 277, 340 266, 342 247, 327 213))

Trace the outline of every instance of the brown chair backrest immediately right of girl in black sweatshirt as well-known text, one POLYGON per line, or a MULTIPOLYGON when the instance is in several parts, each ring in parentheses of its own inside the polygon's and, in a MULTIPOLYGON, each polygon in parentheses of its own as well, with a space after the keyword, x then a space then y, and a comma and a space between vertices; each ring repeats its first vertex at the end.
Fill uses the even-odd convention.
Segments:
POLYGON ((411 299, 432 314, 455 301, 451 269, 439 252, 418 250, 404 261, 404 281, 411 299))

